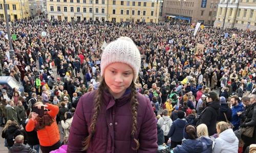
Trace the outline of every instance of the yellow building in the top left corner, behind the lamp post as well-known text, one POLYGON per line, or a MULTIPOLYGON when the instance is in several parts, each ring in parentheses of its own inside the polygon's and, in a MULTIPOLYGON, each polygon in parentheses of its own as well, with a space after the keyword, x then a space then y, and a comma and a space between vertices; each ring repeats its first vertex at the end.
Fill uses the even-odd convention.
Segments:
MULTIPOLYGON (((11 21, 30 16, 29 0, 6 0, 7 14, 11 21), (21 3, 20 3, 21 2, 21 3)), ((5 20, 4 1, 0 0, 0 18, 5 20)))

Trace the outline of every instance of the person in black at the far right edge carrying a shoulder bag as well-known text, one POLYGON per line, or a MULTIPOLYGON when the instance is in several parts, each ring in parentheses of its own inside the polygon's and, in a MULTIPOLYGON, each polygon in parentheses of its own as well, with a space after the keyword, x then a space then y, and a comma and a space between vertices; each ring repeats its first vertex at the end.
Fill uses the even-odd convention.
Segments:
POLYGON ((244 122, 240 125, 240 127, 252 127, 254 126, 254 130, 253 130, 253 135, 252 137, 247 137, 245 135, 242 134, 242 140, 244 141, 244 150, 247 146, 249 146, 250 144, 255 144, 256 143, 256 94, 251 94, 250 95, 250 103, 251 106, 249 107, 249 111, 247 112, 246 109, 246 119, 244 120, 244 122))

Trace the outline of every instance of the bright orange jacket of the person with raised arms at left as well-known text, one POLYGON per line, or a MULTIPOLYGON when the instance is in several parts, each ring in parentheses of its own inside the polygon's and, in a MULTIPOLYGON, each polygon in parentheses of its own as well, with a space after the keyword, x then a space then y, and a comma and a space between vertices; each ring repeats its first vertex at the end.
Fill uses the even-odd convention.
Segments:
MULTIPOLYGON (((54 119, 54 122, 50 126, 45 126, 44 129, 37 131, 37 136, 41 146, 52 146, 60 140, 59 128, 55 120, 56 115, 59 112, 59 108, 52 104, 46 105, 48 105, 48 109, 50 110, 47 113, 54 119)), ((36 121, 33 121, 30 118, 26 125, 26 131, 33 131, 35 129, 35 122, 36 121)))

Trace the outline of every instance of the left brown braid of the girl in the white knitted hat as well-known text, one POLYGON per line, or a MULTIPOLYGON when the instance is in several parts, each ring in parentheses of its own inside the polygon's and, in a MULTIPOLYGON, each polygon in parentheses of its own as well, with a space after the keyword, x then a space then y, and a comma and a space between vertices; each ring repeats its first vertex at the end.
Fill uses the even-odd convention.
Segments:
POLYGON ((96 93, 95 93, 95 99, 94 99, 94 114, 93 114, 93 117, 92 117, 92 120, 91 120, 91 125, 89 127, 91 133, 89 134, 88 137, 86 137, 86 140, 84 140, 82 142, 83 144, 83 149, 82 151, 84 150, 87 150, 89 145, 90 145, 90 142, 91 142, 91 139, 95 133, 95 127, 96 127, 96 122, 97 122, 97 118, 99 116, 99 113, 100 113, 100 108, 101 108, 101 102, 103 100, 102 96, 103 96, 103 90, 105 88, 105 81, 104 79, 100 82, 100 85, 98 87, 98 89, 96 90, 96 93))

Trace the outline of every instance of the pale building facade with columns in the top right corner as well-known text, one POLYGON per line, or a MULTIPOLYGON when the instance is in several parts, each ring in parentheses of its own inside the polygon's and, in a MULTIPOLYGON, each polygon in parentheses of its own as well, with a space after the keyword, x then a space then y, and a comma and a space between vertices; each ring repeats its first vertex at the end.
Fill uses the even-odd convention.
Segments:
POLYGON ((220 0, 214 26, 222 28, 223 25, 224 28, 256 30, 256 0, 220 0))

